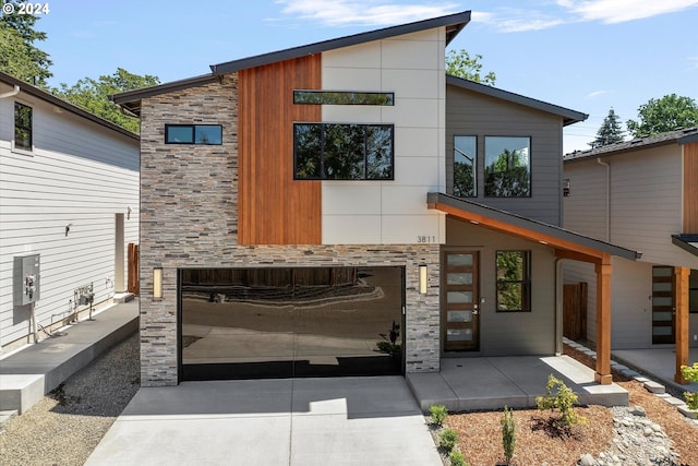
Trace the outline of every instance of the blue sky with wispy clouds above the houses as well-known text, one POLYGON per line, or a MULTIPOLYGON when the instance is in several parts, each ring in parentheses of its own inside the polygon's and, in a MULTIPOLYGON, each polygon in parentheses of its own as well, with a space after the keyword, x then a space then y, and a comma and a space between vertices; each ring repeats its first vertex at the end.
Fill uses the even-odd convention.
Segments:
POLYGON ((611 107, 637 119, 650 98, 698 100, 698 0, 56 0, 36 23, 51 85, 117 68, 161 82, 208 65, 470 10, 448 49, 483 56, 496 87, 589 113, 565 152, 589 148, 611 107))

